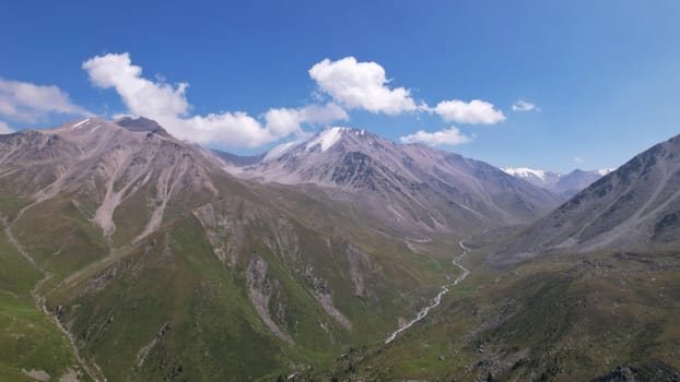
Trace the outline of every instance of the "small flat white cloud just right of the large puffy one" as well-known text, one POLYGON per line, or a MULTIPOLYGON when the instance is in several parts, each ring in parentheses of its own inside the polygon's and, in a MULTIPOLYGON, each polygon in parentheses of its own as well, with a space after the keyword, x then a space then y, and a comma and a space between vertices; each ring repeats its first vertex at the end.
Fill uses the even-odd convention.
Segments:
POLYGON ((481 99, 472 99, 469 103, 460 99, 443 100, 431 110, 447 122, 494 124, 505 120, 503 111, 481 99))

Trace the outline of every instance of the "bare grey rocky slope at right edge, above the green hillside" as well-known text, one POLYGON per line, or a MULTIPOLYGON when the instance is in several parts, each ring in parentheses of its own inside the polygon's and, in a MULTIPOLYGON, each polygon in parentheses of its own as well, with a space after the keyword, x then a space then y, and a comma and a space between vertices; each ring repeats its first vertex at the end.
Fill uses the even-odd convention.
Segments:
MULTIPOLYGON (((680 238, 680 135, 636 155, 541 218, 504 250, 650 249, 680 238)), ((506 259, 507 260, 507 259, 506 259)))

